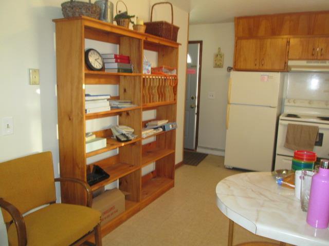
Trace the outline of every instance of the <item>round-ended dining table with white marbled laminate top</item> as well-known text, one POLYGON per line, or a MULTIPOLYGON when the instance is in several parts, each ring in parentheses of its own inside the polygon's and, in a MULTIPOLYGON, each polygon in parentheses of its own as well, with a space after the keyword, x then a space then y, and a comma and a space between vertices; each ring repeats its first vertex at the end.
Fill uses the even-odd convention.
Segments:
POLYGON ((228 245, 232 245, 233 223, 280 245, 329 245, 329 230, 309 226, 294 189, 279 186, 271 172, 226 177, 218 182, 216 195, 217 207, 230 219, 228 245))

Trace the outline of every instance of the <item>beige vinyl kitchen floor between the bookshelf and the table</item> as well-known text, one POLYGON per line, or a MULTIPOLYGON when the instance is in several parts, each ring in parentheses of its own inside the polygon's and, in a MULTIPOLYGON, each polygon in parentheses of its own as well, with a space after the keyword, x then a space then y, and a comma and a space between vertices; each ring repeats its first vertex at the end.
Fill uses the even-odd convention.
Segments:
MULTIPOLYGON (((175 187, 103 237, 104 246, 227 245, 228 218, 217 208, 215 187, 240 173, 224 168, 224 158, 208 155, 197 167, 175 172, 175 187)), ((233 245, 270 241, 234 224, 233 245)))

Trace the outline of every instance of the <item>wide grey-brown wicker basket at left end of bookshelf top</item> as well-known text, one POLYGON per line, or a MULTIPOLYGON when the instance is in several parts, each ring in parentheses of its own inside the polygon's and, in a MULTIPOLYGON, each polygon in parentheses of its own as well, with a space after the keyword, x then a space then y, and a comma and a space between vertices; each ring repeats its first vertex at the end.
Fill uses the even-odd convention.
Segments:
POLYGON ((100 7, 92 4, 91 0, 89 0, 89 3, 70 0, 69 2, 62 3, 61 6, 65 18, 85 15, 98 19, 101 13, 100 7))

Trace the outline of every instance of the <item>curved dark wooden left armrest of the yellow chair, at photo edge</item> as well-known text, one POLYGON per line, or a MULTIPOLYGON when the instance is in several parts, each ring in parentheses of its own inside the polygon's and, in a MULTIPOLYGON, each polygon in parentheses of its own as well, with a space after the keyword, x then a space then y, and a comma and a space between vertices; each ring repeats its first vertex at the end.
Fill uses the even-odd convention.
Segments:
POLYGON ((27 243, 27 237, 23 215, 15 206, 13 206, 13 204, 9 203, 8 201, 5 201, 3 198, 0 198, 0 207, 6 210, 11 215, 15 223, 19 246, 25 246, 27 243))

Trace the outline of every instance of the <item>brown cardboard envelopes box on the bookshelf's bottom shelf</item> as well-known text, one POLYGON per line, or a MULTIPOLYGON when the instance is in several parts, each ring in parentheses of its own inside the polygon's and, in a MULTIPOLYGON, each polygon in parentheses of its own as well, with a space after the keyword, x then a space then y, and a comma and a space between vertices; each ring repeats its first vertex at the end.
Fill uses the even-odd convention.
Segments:
POLYGON ((103 225, 125 211, 124 194, 117 188, 107 190, 93 199, 92 208, 101 212, 103 225))

